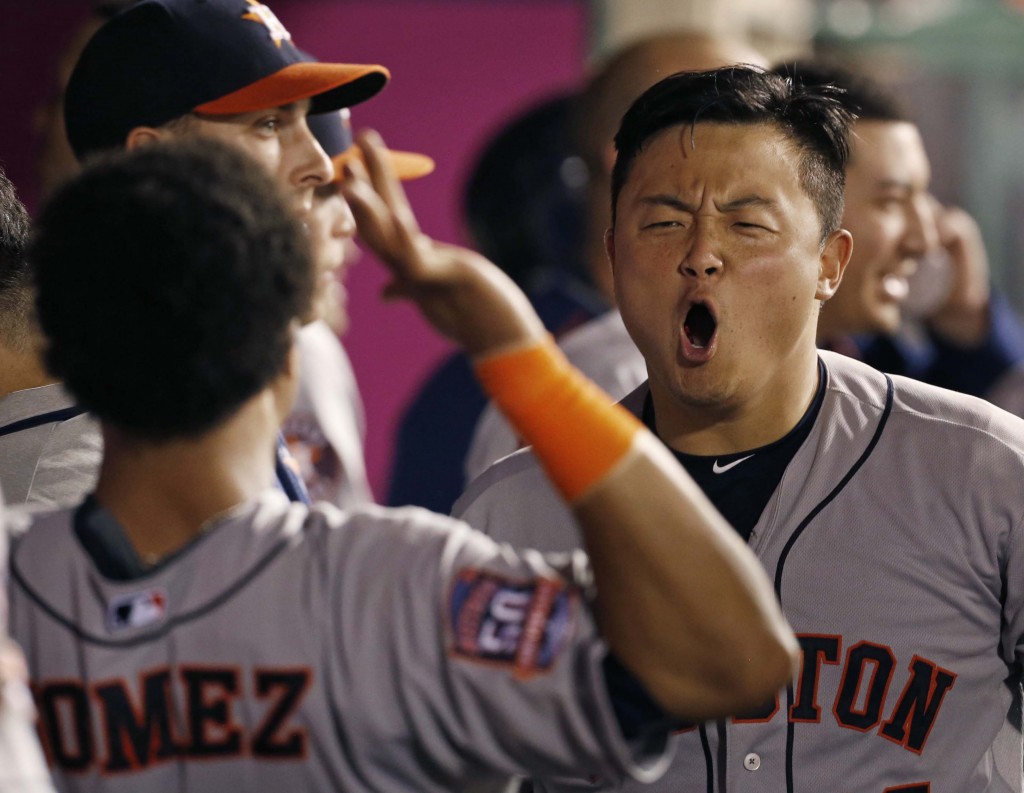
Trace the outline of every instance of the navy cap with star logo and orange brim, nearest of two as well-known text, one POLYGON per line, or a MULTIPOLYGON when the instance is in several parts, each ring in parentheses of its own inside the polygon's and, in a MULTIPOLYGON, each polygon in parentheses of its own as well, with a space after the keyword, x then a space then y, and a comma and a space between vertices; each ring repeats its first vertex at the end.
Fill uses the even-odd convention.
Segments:
POLYGON ((310 62, 257 0, 142 0, 92 37, 65 95, 75 155, 124 145, 138 126, 311 98, 311 113, 369 99, 381 66, 310 62))

